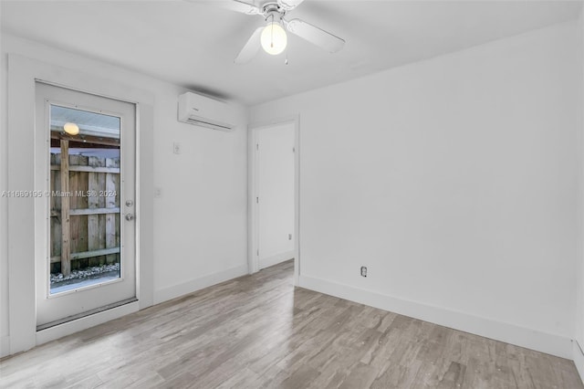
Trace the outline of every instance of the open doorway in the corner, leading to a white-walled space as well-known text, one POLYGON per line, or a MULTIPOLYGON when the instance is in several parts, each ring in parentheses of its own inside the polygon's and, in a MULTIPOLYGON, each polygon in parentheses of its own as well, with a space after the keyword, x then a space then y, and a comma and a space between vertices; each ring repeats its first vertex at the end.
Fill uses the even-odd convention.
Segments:
POLYGON ((251 272, 295 260, 297 237, 297 121, 252 130, 251 272))

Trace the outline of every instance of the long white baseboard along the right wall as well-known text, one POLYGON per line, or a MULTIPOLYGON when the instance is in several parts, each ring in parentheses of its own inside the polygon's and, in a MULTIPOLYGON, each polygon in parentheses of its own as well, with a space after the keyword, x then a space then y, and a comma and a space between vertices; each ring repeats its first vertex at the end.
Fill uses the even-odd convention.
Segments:
POLYGON ((515 344, 538 352, 546 352, 569 360, 574 358, 572 341, 561 335, 520 327, 502 321, 494 321, 460 311, 447 310, 416 301, 403 300, 325 279, 301 275, 299 286, 339 297, 340 299, 359 302, 381 310, 390 310, 404 316, 433 322, 454 330, 474 333, 496 341, 515 344))

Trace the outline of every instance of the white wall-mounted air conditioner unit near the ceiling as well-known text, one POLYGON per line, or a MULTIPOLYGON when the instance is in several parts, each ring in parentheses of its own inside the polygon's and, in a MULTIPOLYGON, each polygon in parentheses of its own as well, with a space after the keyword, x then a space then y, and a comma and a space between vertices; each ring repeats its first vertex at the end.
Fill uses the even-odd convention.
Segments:
POLYGON ((179 96, 179 121, 213 130, 235 128, 235 114, 227 103, 192 92, 179 96))

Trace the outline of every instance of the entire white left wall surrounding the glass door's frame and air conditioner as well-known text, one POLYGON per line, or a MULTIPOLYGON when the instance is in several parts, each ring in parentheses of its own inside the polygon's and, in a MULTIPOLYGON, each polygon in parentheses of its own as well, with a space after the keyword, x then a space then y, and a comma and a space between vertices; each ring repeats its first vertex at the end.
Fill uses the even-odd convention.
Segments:
MULTIPOLYGON (((17 53, 63 68, 143 89, 154 97, 154 301, 180 296, 223 279, 247 273, 245 107, 234 104, 237 130, 212 131, 176 121, 177 97, 184 89, 148 76, 2 35, 0 98, 0 191, 7 183, 7 53, 17 53), (181 154, 172 153, 180 142, 181 154)), ((32 114, 32 113, 31 113, 32 114)), ((17 188, 11 188, 17 189, 17 188)), ((0 198, 0 340, 8 351, 7 202, 0 198)), ((28 258, 23 258, 28 260, 28 258)), ((33 258, 30 258, 33 260, 33 258)), ((11 279, 11 282, 18 282, 11 279)), ((17 297, 11 297, 13 299, 17 297)))

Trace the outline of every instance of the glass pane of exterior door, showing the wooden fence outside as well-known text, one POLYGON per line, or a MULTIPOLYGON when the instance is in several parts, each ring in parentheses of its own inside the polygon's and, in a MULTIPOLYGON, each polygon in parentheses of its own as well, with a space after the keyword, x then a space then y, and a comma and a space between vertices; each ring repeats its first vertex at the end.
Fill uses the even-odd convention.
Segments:
POLYGON ((120 279, 121 119, 50 103, 49 110, 53 295, 120 279))

